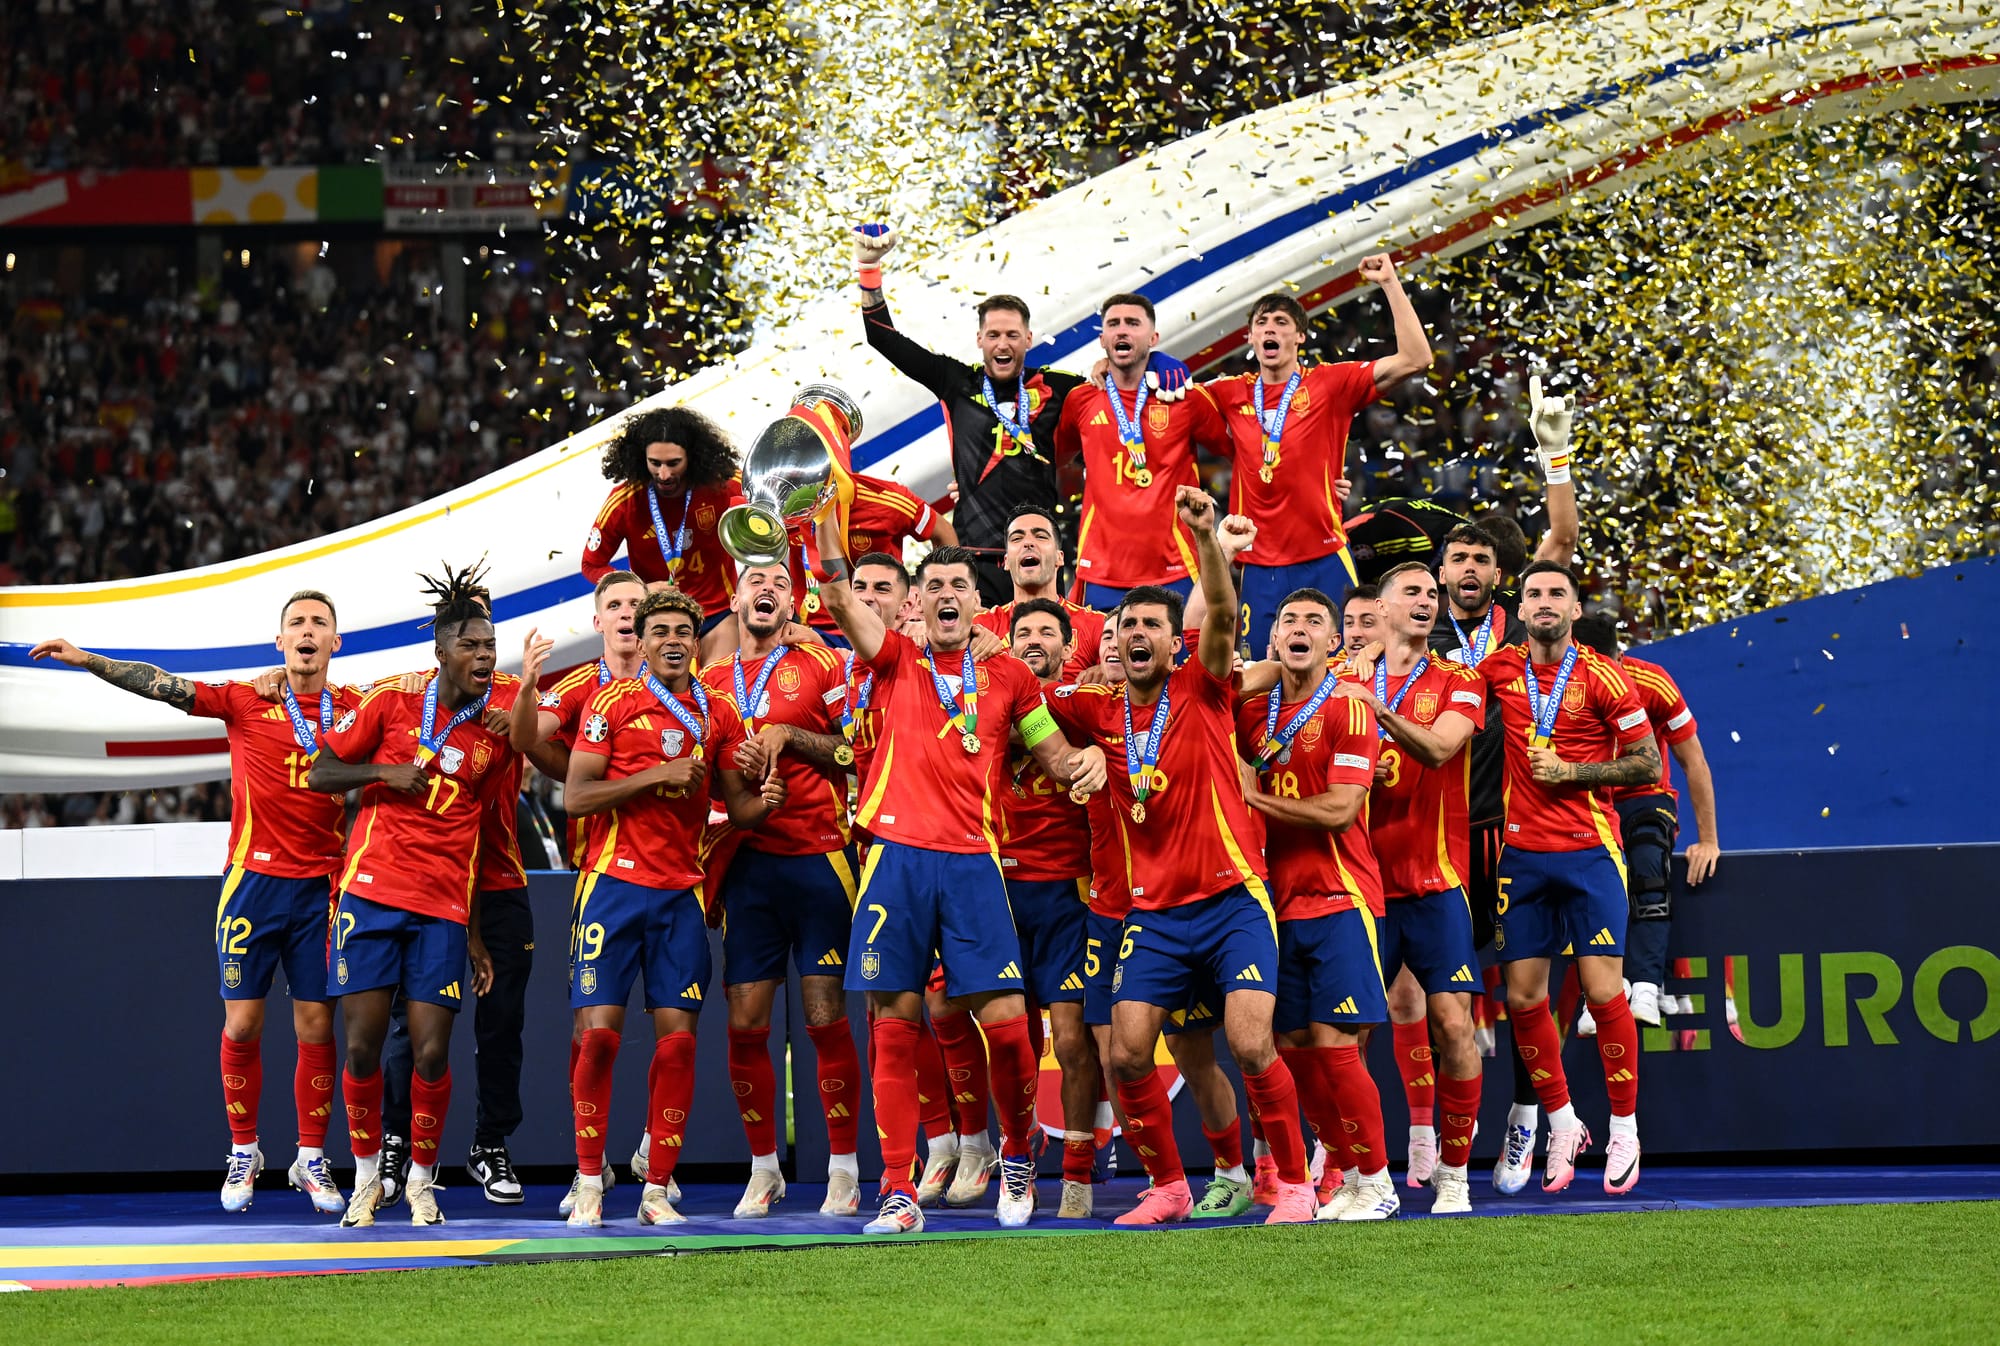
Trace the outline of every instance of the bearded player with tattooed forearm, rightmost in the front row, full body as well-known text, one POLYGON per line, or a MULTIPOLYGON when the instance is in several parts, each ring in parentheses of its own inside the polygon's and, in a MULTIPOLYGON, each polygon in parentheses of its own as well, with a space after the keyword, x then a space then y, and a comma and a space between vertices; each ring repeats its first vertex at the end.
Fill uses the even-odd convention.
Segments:
POLYGON ((1494 950, 1506 974, 1514 1040, 1548 1110, 1544 1192, 1570 1186, 1576 1152, 1590 1142, 1570 1106, 1562 1042, 1548 1014, 1548 960, 1574 950, 1612 1110, 1604 1190, 1620 1194, 1638 1182, 1638 1026, 1624 996, 1624 856, 1604 796, 1656 782, 1660 750, 1618 664, 1570 636, 1580 614, 1576 576, 1538 560, 1520 584, 1526 644, 1480 664, 1488 714, 1506 728, 1506 850, 1494 950))

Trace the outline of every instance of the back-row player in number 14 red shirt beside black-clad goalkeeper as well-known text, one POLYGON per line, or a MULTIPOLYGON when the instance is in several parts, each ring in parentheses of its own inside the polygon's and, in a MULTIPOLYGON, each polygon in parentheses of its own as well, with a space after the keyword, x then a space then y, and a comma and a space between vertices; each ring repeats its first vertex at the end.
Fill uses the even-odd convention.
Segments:
MULTIPOLYGON (((1194 540, 1174 512, 1174 488, 1196 486, 1196 446, 1226 454, 1230 436, 1206 388, 1178 402, 1154 396, 1146 360, 1160 344, 1152 300, 1114 294, 1098 308, 1104 382, 1062 402, 1056 454, 1084 460, 1084 520, 1076 532, 1076 574, 1098 612, 1126 590, 1160 584, 1194 590, 1194 540)), ((1082 652, 1092 646, 1082 642, 1082 652)))

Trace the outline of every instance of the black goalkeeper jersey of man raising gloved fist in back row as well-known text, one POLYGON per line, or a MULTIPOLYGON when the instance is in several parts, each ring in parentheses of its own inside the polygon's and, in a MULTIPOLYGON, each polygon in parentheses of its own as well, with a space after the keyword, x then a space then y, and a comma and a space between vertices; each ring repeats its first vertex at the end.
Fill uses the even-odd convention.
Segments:
MULTIPOLYGON (((1054 516, 1056 422, 1062 418, 1062 400, 1084 384, 1082 378, 1048 368, 1028 370, 1032 446, 1022 448, 1002 434, 1000 418, 986 406, 984 370, 978 364, 924 350, 896 330, 888 304, 864 308, 862 326, 868 330, 870 346, 906 378, 924 384, 944 406, 944 434, 952 442, 952 478, 958 482, 952 526, 960 544, 1006 550, 1006 520, 1018 504, 1036 504, 1054 516)), ((1018 380, 996 382, 994 398, 1012 418, 1020 398, 1018 380)))

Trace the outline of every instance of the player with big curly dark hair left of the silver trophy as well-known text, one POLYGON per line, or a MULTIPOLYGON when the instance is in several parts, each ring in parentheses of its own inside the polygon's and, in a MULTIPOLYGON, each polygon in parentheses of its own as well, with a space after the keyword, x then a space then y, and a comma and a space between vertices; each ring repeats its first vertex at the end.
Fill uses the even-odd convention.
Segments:
POLYGON ((648 586, 672 584, 702 606, 702 630, 720 622, 736 592, 736 562, 716 538, 716 520, 742 502, 736 450, 696 410, 668 406, 626 416, 604 450, 604 498, 584 538, 584 578, 612 570, 618 548, 648 586))

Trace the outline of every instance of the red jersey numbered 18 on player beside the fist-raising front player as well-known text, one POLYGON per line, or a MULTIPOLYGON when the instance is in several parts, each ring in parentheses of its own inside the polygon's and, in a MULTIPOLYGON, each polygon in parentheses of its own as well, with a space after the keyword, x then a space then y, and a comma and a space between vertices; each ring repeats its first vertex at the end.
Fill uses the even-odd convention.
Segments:
MULTIPOLYGON (((1244 748, 1262 742, 1270 714, 1268 700, 1250 696, 1238 706, 1236 742, 1244 748)), ((1280 702, 1278 724, 1290 724, 1304 708, 1304 700, 1280 702)), ((1264 792, 1284 800, 1310 800, 1334 786, 1366 790, 1374 784, 1378 744, 1374 710, 1368 702, 1328 696, 1264 772, 1264 792)), ((1270 868, 1278 920, 1346 912, 1358 902, 1366 902, 1370 912, 1382 916, 1382 876, 1368 844, 1366 802, 1362 816, 1346 832, 1294 828, 1266 814, 1258 816, 1264 818, 1264 864, 1270 868)))

